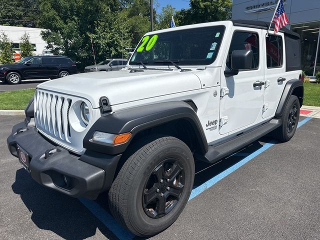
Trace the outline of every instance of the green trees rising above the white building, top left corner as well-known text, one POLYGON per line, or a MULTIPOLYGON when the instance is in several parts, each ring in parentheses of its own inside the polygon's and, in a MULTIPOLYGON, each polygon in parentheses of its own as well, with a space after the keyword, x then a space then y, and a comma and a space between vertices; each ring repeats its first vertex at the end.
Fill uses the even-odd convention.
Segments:
POLYGON ((36 27, 40 0, 0 0, 0 25, 36 27))

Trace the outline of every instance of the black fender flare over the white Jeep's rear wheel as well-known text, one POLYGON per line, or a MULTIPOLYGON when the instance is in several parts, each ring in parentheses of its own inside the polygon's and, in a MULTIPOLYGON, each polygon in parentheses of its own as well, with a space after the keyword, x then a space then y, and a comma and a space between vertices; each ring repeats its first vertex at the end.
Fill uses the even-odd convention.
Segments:
POLYGON ((284 111, 285 105, 288 102, 290 96, 295 93, 299 99, 300 106, 303 102, 303 81, 299 79, 288 80, 284 86, 278 107, 275 111, 275 117, 281 117, 284 111))

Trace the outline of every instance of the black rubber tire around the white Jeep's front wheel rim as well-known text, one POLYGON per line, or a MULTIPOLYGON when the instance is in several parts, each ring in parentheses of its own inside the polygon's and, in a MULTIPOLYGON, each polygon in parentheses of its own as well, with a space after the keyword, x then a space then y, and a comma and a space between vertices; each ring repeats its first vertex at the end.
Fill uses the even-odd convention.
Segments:
POLYGON ((119 223, 133 234, 146 237, 163 231, 180 215, 193 186, 194 160, 189 147, 175 137, 164 136, 141 142, 142 139, 136 142, 139 147, 127 156, 113 181, 108 193, 108 204, 119 223), (183 167, 184 187, 179 200, 166 215, 151 218, 142 206, 145 183, 154 167, 167 158, 174 158, 183 167))

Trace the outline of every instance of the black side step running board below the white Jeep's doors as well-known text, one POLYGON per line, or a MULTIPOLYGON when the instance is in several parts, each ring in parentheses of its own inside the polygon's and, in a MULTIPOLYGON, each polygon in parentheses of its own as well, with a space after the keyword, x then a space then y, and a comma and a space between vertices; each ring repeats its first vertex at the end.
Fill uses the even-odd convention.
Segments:
POLYGON ((275 128, 281 125, 281 119, 272 119, 261 126, 236 136, 226 142, 216 145, 209 145, 207 153, 203 155, 195 154, 197 160, 213 163, 225 156, 230 155, 232 152, 239 150, 240 148, 248 145, 249 143, 259 139, 265 134, 271 132, 275 128))

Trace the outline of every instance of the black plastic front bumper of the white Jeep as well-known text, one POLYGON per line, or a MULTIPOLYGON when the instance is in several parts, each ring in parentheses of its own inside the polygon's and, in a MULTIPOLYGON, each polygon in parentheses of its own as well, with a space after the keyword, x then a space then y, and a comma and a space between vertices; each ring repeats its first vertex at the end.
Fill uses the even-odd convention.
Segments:
POLYGON ((88 149, 81 156, 71 154, 39 134, 30 118, 13 126, 7 138, 9 151, 16 157, 17 144, 29 155, 35 181, 73 197, 95 199, 110 188, 121 157, 88 149))

